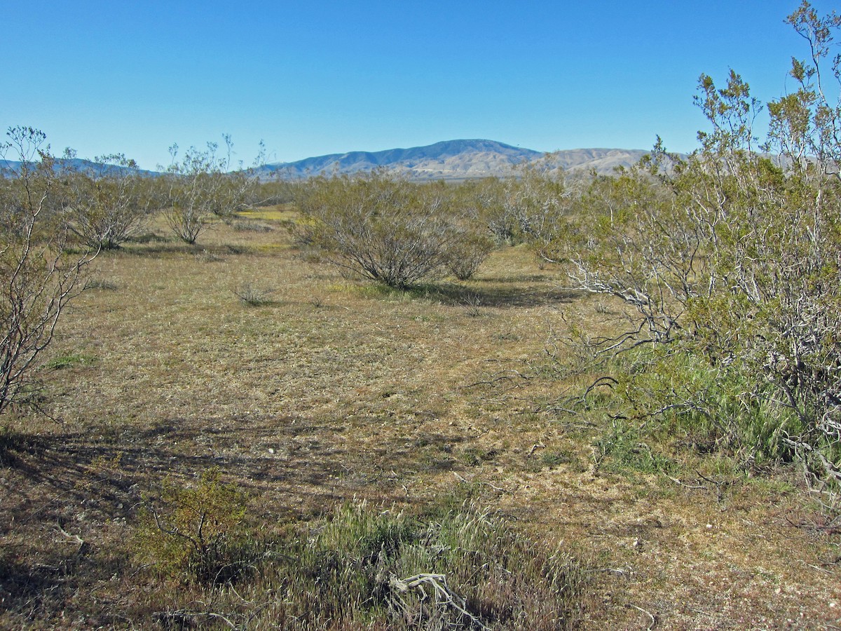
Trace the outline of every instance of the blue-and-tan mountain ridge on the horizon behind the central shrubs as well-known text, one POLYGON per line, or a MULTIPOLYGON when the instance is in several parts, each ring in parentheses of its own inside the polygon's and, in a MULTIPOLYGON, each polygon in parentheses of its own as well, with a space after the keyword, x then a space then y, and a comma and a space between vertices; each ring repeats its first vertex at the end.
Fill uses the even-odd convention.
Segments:
MULTIPOLYGON (((610 173, 616 167, 636 164, 647 153, 635 149, 572 149, 551 154, 549 161, 568 171, 595 169, 610 173)), ((409 149, 351 151, 277 162, 260 167, 258 172, 261 178, 299 179, 384 168, 411 179, 463 180, 509 175, 517 164, 533 162, 542 156, 547 154, 497 141, 443 141, 409 149)))

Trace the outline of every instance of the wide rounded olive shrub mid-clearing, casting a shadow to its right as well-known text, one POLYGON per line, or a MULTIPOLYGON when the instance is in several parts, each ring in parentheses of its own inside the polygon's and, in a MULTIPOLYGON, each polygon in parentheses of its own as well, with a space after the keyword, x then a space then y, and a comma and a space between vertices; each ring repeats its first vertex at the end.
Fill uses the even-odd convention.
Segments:
POLYGON ((404 288, 443 273, 457 251, 481 257, 475 251, 484 244, 449 195, 440 184, 383 172, 315 178, 300 190, 298 241, 320 247, 346 273, 404 288))

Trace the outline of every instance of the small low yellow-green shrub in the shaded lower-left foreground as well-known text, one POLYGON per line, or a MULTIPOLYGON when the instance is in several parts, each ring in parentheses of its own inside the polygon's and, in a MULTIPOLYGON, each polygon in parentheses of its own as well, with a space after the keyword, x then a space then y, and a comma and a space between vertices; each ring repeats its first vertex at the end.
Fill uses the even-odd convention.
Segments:
POLYGON ((164 576, 217 585, 251 568, 247 496, 205 471, 193 485, 164 480, 140 513, 135 550, 164 576))

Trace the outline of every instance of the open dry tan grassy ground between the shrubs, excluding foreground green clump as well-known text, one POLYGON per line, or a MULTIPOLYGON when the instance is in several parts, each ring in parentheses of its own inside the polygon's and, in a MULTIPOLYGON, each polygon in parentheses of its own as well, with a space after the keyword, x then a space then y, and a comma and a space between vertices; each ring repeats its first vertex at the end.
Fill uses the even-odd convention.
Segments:
POLYGON ((98 258, 40 372, 61 422, 3 419, 0 627, 153 627, 198 607, 205 592, 150 575, 132 542, 144 493, 214 467, 264 541, 346 501, 472 498, 592 559, 581 628, 841 626, 837 538, 794 472, 750 479, 667 439, 670 475, 596 466, 609 420, 537 411, 558 389, 534 370, 550 331, 600 326, 610 305, 519 248, 465 283, 353 284, 300 256, 292 218, 98 258), (276 290, 250 305, 246 284, 276 290))

